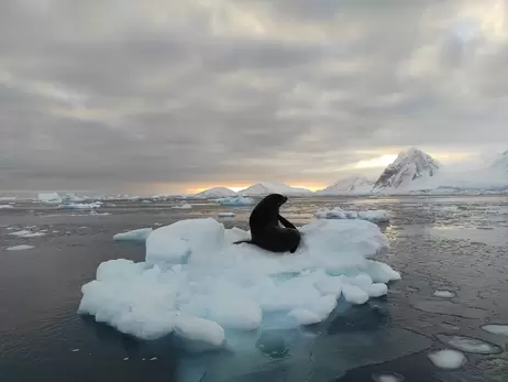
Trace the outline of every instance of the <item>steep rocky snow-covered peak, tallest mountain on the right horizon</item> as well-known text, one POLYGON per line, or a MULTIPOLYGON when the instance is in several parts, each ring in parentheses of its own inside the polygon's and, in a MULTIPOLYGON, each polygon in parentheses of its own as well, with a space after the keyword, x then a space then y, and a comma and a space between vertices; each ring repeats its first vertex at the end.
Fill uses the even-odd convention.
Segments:
POLYGON ((421 189, 438 174, 441 164, 421 150, 411 148, 401 152, 397 159, 388 165, 377 182, 374 189, 421 189))

